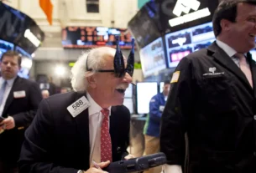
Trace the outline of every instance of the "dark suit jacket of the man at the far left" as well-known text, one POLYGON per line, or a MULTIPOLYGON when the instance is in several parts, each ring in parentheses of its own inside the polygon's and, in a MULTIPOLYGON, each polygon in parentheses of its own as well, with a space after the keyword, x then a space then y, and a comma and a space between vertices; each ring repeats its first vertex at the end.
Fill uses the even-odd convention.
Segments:
POLYGON ((15 127, 5 130, 0 135, 0 160, 15 164, 18 161, 21 145, 24 142, 24 131, 29 127, 42 99, 39 84, 29 79, 17 77, 8 94, 3 108, 3 117, 13 116, 15 127), (24 91, 25 96, 14 98, 13 93, 24 91))

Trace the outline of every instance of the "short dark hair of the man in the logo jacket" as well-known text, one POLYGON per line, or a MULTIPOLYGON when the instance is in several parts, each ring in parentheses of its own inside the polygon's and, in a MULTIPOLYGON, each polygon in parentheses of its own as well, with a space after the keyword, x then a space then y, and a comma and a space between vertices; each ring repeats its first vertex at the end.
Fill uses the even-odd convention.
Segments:
POLYGON ((236 22, 238 3, 249 3, 256 5, 256 0, 222 0, 212 17, 213 32, 215 37, 222 33, 222 19, 227 19, 232 23, 236 22))

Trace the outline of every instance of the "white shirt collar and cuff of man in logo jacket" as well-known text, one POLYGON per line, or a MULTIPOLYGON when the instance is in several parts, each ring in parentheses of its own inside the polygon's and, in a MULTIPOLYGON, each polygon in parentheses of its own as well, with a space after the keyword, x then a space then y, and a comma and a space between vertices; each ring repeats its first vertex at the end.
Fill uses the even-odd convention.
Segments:
MULTIPOLYGON (((223 43, 220 40, 216 40, 217 46, 222 48, 227 55, 232 58, 235 64, 239 67, 239 61, 238 59, 233 58, 233 56, 237 53, 233 48, 227 45, 227 43, 223 43)), ((181 166, 180 165, 167 165, 164 166, 165 173, 182 173, 181 166)))

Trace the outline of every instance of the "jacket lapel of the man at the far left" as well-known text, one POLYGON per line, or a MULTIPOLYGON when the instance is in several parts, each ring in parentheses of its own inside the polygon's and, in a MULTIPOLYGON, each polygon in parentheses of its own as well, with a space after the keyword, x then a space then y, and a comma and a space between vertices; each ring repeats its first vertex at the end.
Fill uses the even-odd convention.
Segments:
POLYGON ((14 91, 18 91, 18 87, 21 84, 21 79, 17 76, 17 78, 14 80, 13 82, 13 86, 12 89, 10 90, 10 93, 8 94, 8 98, 5 102, 4 108, 3 108, 3 116, 8 116, 7 111, 8 111, 8 107, 10 106, 10 104, 13 102, 13 92, 14 91))

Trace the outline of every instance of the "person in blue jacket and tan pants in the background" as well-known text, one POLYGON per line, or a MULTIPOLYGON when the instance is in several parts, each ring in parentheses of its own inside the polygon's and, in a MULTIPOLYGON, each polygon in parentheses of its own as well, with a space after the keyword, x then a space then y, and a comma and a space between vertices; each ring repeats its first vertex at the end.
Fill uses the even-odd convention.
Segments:
MULTIPOLYGON (((165 81, 163 92, 154 95, 149 102, 149 114, 144 125, 145 155, 159 152, 160 120, 165 109, 165 102, 170 90, 170 81, 165 81)), ((154 168, 146 170, 147 173, 154 172, 154 168)))

